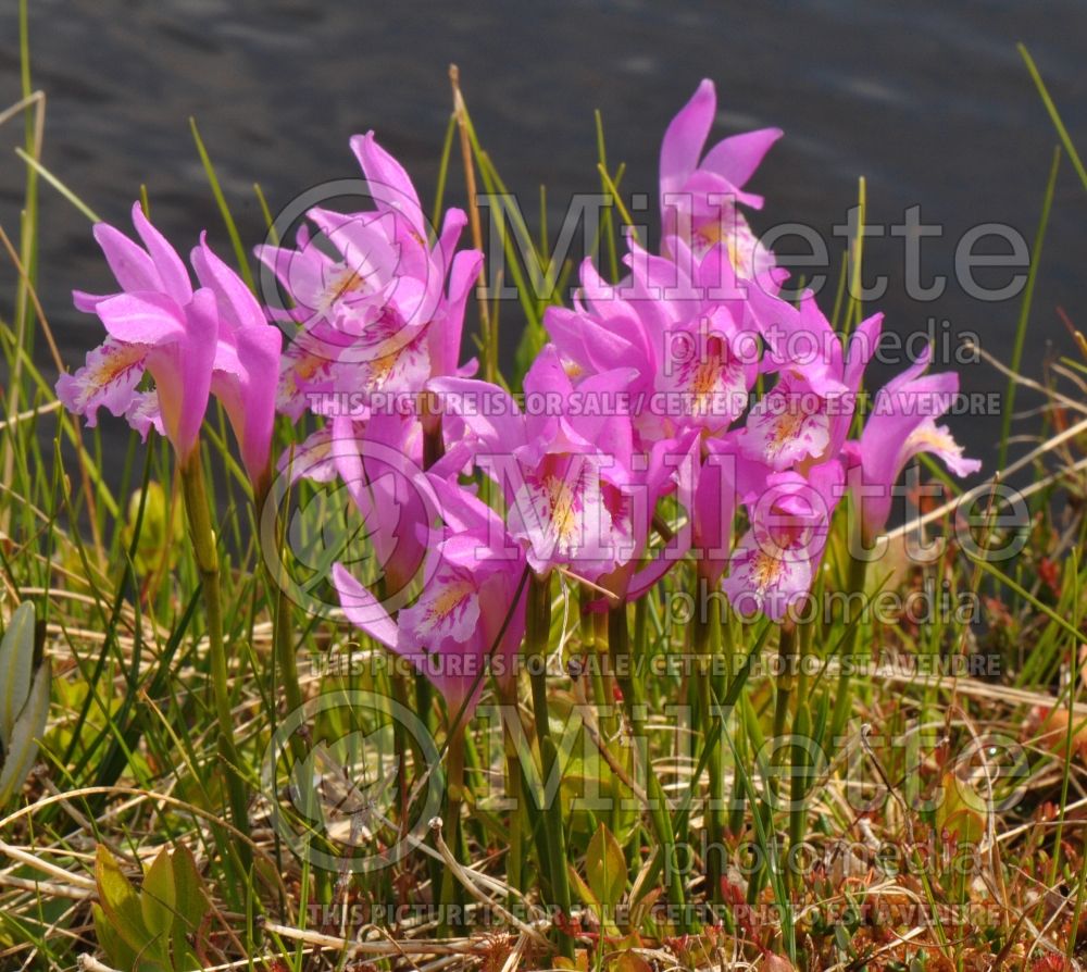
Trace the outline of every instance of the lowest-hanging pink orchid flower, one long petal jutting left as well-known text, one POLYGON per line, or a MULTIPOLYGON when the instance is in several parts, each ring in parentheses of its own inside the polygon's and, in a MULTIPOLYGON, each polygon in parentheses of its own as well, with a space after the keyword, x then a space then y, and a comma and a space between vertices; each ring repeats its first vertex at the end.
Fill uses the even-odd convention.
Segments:
POLYGON ((426 479, 446 527, 428 552, 432 568, 418 598, 393 620, 342 564, 334 566, 333 584, 348 620, 426 675, 452 720, 462 707, 465 716, 475 710, 488 672, 507 687, 515 677, 525 634, 524 557, 487 506, 440 476, 426 479))

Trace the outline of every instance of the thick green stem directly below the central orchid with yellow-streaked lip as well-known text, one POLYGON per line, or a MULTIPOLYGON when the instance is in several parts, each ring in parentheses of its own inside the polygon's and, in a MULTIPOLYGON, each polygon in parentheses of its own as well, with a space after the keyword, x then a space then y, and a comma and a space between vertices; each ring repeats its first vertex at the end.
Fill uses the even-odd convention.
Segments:
MULTIPOLYGON (((548 724, 547 695, 547 650, 551 634, 551 583, 550 577, 535 574, 528 582, 528 605, 525 616, 525 646, 528 652, 528 677, 533 686, 533 715, 536 720, 536 739, 540 748, 540 769, 544 780, 545 808, 544 834, 547 848, 540 849, 540 867, 547 872, 551 884, 554 906, 565 920, 570 919, 570 880, 566 875, 566 835, 562 823, 562 801, 560 793, 547 797, 558 752, 551 739, 548 724)), ((561 789, 561 782, 560 782, 561 789)), ((565 958, 574 957, 574 942, 565 933, 559 936, 559 947, 565 958)))

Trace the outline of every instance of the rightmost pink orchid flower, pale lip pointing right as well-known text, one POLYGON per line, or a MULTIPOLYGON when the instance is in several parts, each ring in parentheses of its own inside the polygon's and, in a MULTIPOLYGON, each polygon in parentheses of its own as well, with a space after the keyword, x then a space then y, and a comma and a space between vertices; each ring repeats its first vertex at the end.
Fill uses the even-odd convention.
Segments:
POLYGON ((849 443, 850 488, 861 511, 865 541, 874 539, 890 516, 895 483, 921 452, 937 456, 957 476, 976 473, 982 463, 966 459, 946 425, 937 425, 959 391, 954 372, 927 375, 932 348, 876 395, 859 443, 849 443))

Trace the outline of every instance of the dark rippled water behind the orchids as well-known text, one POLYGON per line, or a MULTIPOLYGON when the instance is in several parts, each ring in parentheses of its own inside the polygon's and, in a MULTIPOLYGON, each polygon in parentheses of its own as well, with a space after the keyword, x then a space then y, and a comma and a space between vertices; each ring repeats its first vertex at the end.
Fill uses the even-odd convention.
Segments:
MULTIPOLYGON (((767 197, 757 228, 808 223, 827 238, 835 261, 841 240, 830 227, 853 204, 859 175, 867 178, 870 222, 900 220, 920 204, 925 222, 946 227, 942 239, 925 242, 925 278, 950 274, 954 245, 975 224, 1008 223, 1033 238, 1055 135, 1016 40, 1030 48, 1087 152, 1083 0, 32 0, 30 38, 34 83, 49 97, 46 164, 124 226, 146 183, 157 224, 179 249, 208 227, 224 257, 229 246, 189 115, 200 123, 251 245, 263 229, 252 183, 261 183, 276 209, 308 186, 354 176, 348 138, 367 128, 408 166, 428 205, 451 61, 460 64, 480 138, 508 185, 533 211, 546 184, 554 226, 571 194, 599 185, 592 109, 603 113, 611 161, 628 165, 624 188, 653 192, 660 137, 703 76, 717 84, 716 137, 763 125, 786 132, 752 186, 767 197)), ((15 3, 4 0, 0 104, 20 95, 17 50, 15 3)), ((21 138, 18 124, 0 129, 0 221, 13 237, 24 172, 11 149, 21 138)), ((460 185, 455 167, 451 186, 460 185)), ((455 191, 450 201, 458 201, 455 191)), ((1065 162, 1025 357, 1035 375, 1051 348, 1072 348, 1057 306, 1087 328, 1087 294, 1077 286, 1085 202, 1065 162)), ((68 294, 112 283, 89 228, 42 186, 40 291, 71 366, 99 331, 75 312, 68 294)), ((977 332, 987 350, 1009 357, 1019 298, 980 302, 952 279, 939 300, 919 304, 903 292, 901 239, 870 240, 865 262, 869 273, 890 277, 877 302, 889 327, 923 329, 934 315, 977 332)), ((14 274, 0 263, 0 313, 10 320, 14 274)), ((988 279, 995 286, 1007 276, 988 279)), ((516 320, 510 303, 503 310, 510 344, 516 320)), ((1004 379, 971 365, 963 386, 1002 389, 1004 379)), ((971 452, 991 460, 999 420, 960 418, 953 426, 971 452)), ((1017 427, 1030 432, 1036 421, 1017 427)))

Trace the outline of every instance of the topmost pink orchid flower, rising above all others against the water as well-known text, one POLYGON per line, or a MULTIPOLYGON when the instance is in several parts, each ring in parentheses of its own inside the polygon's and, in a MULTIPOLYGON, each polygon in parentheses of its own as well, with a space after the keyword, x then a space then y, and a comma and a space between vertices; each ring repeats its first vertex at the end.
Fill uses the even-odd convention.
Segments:
POLYGON ((682 240, 697 253, 724 244, 733 266, 753 279, 774 265, 737 203, 762 208, 762 197, 744 190, 779 128, 762 128, 719 141, 702 150, 717 112, 717 94, 707 79, 672 120, 661 144, 661 212, 664 249, 682 240))

